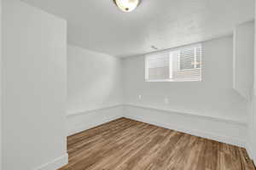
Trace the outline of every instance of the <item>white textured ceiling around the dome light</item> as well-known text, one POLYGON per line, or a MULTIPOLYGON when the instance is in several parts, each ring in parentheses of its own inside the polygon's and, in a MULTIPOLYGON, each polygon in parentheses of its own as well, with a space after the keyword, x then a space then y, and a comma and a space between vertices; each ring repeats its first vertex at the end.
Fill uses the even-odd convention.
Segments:
POLYGON ((231 34, 254 16, 254 0, 143 0, 131 13, 112 0, 22 1, 66 19, 68 42, 118 57, 231 34))

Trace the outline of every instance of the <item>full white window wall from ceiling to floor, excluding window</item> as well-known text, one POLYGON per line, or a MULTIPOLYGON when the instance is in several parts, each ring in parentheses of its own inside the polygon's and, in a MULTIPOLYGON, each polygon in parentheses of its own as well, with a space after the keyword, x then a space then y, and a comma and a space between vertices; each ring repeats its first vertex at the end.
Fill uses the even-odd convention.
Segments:
POLYGON ((144 56, 124 59, 125 116, 244 146, 247 101, 232 86, 232 45, 232 36, 202 42, 202 82, 145 82, 144 56))

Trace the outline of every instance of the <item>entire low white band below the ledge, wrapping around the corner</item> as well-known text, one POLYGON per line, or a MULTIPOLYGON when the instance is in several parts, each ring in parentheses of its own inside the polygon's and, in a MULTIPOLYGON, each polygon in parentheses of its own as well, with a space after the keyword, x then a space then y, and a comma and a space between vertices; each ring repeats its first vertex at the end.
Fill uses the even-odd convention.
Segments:
MULTIPOLYGON (((247 124, 217 117, 177 113, 138 105, 115 105, 67 116, 68 135, 121 117, 247 148, 247 124)), ((251 150, 248 150, 250 156, 251 150)))

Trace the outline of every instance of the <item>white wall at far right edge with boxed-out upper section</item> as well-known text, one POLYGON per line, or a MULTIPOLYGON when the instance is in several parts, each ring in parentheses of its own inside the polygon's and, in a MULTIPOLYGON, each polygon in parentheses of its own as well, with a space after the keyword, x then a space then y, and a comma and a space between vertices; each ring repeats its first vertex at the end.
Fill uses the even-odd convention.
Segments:
POLYGON ((254 21, 236 26, 234 30, 233 88, 248 103, 246 148, 253 159, 255 150, 254 114, 256 99, 253 95, 254 21))

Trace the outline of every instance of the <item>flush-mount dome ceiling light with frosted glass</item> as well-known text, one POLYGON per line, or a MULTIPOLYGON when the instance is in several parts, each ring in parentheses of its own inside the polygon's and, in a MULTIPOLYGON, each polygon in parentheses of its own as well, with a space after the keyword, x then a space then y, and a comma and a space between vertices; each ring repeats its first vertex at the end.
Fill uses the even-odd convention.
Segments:
POLYGON ((140 0, 113 0, 113 2, 124 12, 131 12, 140 3, 140 0))

